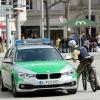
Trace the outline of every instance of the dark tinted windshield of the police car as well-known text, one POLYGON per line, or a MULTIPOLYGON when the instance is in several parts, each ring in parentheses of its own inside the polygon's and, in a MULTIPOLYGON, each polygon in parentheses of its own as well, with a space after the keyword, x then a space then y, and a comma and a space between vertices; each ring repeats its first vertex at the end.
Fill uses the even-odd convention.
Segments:
POLYGON ((17 50, 15 61, 51 61, 62 60, 62 56, 55 48, 36 48, 17 50))

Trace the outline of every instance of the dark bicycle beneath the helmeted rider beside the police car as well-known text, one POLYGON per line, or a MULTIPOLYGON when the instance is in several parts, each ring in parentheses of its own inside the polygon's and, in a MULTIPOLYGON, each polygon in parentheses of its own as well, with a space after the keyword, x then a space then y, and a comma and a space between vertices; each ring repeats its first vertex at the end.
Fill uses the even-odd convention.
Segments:
POLYGON ((93 92, 97 90, 97 78, 96 78, 96 69, 92 66, 93 56, 86 57, 83 62, 86 65, 85 70, 82 72, 82 83, 83 89, 87 90, 87 82, 90 82, 91 88, 93 92))

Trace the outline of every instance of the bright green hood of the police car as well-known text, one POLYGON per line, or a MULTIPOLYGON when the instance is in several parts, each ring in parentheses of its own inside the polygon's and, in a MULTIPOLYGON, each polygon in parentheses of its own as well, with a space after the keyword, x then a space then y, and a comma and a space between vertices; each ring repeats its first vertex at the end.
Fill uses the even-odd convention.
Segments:
MULTIPOLYGON (((60 61, 32 61, 16 62, 16 66, 34 73, 56 73, 69 68, 71 65, 66 60, 60 61)), ((19 68, 18 68, 19 69, 19 68)))

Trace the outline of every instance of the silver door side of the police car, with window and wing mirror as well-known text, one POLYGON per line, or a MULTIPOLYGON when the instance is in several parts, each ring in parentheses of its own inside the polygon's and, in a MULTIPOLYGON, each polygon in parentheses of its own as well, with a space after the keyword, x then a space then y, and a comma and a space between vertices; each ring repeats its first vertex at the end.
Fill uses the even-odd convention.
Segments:
POLYGON ((12 72, 12 63, 11 63, 11 57, 13 56, 13 49, 9 49, 7 54, 4 57, 4 60, 2 62, 2 78, 3 83, 8 88, 11 87, 11 72, 12 72))

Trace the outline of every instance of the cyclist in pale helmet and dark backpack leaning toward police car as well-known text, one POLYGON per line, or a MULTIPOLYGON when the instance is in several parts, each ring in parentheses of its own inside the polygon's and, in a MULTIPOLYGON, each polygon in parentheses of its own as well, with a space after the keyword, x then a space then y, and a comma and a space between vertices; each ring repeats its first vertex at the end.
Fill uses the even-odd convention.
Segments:
MULTIPOLYGON (((88 62, 84 63, 83 60, 90 56, 89 52, 86 50, 84 46, 78 46, 76 45, 75 40, 70 40, 68 45, 73 49, 72 51, 72 58, 73 61, 76 62, 76 60, 79 60, 80 63, 77 68, 77 78, 78 78, 78 83, 79 83, 79 78, 82 72, 85 70, 85 67, 87 66, 88 62)), ((91 57, 91 56, 90 56, 91 57)), ((97 81, 97 89, 100 89, 100 85, 97 81)))

